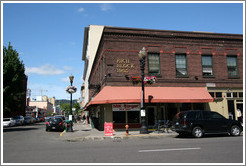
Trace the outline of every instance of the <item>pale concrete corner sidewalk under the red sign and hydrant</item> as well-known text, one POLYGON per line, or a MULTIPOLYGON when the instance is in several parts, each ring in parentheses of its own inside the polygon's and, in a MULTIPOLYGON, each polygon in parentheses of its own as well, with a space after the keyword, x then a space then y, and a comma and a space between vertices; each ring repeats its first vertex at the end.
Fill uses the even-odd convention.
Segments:
POLYGON ((104 140, 104 139, 113 139, 113 140, 121 140, 121 139, 129 139, 129 138, 158 138, 158 137, 168 137, 172 136, 175 137, 178 134, 169 130, 167 132, 160 132, 157 131, 150 131, 149 134, 140 134, 139 131, 129 131, 129 135, 126 136, 124 130, 115 131, 114 130, 113 136, 105 136, 104 131, 98 131, 90 126, 90 124, 83 124, 83 123, 74 123, 73 125, 73 132, 63 132, 60 134, 59 139, 64 141, 85 141, 85 140, 104 140))

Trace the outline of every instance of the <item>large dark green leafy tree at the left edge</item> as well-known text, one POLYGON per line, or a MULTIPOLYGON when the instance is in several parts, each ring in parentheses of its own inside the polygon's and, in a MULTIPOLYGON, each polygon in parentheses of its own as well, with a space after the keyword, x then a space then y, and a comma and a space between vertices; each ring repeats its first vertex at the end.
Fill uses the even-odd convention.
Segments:
POLYGON ((20 110, 25 98, 25 66, 19 54, 9 43, 3 47, 3 111, 5 114, 20 110))

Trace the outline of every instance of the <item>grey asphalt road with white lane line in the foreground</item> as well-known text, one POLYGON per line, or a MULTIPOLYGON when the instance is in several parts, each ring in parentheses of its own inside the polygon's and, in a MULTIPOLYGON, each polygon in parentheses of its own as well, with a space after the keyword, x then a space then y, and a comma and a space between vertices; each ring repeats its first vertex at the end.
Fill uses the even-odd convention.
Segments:
POLYGON ((43 124, 4 129, 3 163, 242 163, 243 137, 67 142, 43 124))

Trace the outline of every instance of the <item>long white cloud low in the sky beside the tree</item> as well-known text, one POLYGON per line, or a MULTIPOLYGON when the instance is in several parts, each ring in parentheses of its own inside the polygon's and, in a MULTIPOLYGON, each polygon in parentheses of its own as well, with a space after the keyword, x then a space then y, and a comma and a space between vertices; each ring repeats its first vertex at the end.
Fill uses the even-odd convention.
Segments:
POLYGON ((65 73, 63 70, 56 68, 51 64, 44 64, 39 67, 26 67, 25 73, 30 74, 39 74, 39 75, 60 75, 65 73))

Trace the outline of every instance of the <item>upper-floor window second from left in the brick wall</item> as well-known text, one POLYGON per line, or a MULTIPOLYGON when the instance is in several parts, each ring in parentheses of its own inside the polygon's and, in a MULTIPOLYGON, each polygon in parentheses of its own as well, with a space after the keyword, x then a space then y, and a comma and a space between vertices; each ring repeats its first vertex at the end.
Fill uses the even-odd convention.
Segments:
POLYGON ((175 55, 176 62, 176 76, 188 76, 186 55, 175 55))

